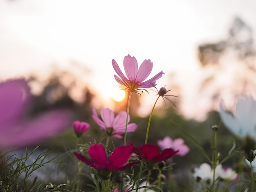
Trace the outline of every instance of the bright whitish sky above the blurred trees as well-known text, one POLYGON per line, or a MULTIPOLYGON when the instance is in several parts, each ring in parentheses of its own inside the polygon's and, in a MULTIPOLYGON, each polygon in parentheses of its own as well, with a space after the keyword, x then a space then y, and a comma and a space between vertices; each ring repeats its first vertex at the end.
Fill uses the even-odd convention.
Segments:
POLYGON ((255 0, 2 0, 0 78, 48 73, 53 63, 73 71, 75 60, 92 71, 79 75, 106 99, 117 87, 111 60, 123 69, 130 54, 139 65, 151 59, 150 76, 166 73, 159 88, 171 89, 168 74, 179 71, 191 92, 197 45, 226 38, 235 16, 255 29, 255 9, 255 0))

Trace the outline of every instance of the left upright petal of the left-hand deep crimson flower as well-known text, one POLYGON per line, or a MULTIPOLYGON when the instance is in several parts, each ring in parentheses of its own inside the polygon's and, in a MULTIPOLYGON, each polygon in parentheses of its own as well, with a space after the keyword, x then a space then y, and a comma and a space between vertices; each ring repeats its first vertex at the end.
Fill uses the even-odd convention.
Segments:
POLYGON ((90 146, 88 152, 92 161, 95 161, 95 163, 98 164, 99 168, 107 167, 108 157, 105 152, 105 148, 102 145, 96 143, 90 146))

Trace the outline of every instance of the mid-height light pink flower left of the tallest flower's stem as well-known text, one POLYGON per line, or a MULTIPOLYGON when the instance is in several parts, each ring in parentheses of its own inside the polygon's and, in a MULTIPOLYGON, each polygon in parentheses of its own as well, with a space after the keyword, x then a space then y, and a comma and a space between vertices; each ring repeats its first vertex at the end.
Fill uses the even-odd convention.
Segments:
MULTIPOLYGON (((112 110, 109 108, 101 109, 101 118, 98 117, 96 109, 92 109, 92 118, 97 123, 101 129, 105 130, 109 136, 114 136, 117 138, 123 138, 120 134, 125 133, 126 128, 126 112, 120 112, 116 117, 112 110)), ((128 123, 130 121, 130 116, 128 116, 128 123)), ((135 123, 129 123, 127 127, 127 132, 134 132, 137 129, 135 123)))

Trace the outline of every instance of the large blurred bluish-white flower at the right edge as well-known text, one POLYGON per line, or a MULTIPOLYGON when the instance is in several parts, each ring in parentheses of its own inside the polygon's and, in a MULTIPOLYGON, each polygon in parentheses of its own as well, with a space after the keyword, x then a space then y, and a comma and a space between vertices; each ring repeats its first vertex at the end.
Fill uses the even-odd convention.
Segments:
POLYGON ((249 135, 256 139, 256 101, 252 96, 238 99, 235 114, 227 112, 220 103, 220 117, 236 136, 249 135))

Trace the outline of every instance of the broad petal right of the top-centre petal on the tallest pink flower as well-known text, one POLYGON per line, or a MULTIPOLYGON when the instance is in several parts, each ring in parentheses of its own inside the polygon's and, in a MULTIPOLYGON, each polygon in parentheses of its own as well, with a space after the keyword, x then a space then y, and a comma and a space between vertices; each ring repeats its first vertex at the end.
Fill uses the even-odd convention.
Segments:
POLYGON ((136 80, 137 82, 144 81, 153 69, 153 63, 149 60, 144 60, 143 63, 139 66, 139 70, 137 72, 136 80))

